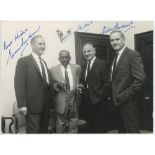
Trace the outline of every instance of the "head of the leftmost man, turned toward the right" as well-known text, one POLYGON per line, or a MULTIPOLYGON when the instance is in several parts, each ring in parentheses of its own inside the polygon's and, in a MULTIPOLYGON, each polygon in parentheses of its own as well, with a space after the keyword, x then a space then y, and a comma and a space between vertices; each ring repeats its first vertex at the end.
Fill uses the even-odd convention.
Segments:
POLYGON ((32 43, 33 52, 36 53, 38 56, 44 54, 45 51, 45 41, 42 37, 35 38, 34 42, 32 43))

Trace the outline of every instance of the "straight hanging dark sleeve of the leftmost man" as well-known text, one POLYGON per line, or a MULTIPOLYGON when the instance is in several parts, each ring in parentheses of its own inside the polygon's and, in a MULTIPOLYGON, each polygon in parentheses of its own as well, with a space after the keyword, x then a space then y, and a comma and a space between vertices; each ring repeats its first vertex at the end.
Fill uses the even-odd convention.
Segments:
POLYGON ((18 107, 26 107, 26 63, 23 59, 19 59, 16 65, 14 87, 18 107))

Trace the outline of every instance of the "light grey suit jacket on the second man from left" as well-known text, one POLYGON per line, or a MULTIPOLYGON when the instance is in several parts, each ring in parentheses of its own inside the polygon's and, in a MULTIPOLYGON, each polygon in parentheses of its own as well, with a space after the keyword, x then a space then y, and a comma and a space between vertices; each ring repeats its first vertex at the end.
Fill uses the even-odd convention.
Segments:
MULTIPOLYGON (((79 83, 79 78, 81 74, 81 67, 79 65, 69 64, 73 76, 73 90, 75 93, 75 101, 74 101, 74 108, 77 109, 77 90, 76 86, 79 83)), ((65 83, 65 79, 63 78, 62 72, 61 72, 61 65, 57 65, 55 67, 52 67, 50 69, 52 79, 54 83, 61 82, 65 83)), ((66 108, 66 91, 64 89, 60 89, 59 92, 55 94, 55 109, 56 112, 59 114, 63 114, 65 112, 66 108)))

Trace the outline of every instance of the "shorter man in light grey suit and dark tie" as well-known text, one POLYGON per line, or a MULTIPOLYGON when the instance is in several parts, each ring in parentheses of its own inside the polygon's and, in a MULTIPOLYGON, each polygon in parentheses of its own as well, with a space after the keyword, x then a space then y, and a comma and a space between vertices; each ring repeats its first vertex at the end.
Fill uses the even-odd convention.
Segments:
POLYGON ((79 65, 71 64, 67 50, 59 52, 61 64, 51 68, 55 90, 55 112, 57 133, 77 133, 77 86, 81 74, 79 65))

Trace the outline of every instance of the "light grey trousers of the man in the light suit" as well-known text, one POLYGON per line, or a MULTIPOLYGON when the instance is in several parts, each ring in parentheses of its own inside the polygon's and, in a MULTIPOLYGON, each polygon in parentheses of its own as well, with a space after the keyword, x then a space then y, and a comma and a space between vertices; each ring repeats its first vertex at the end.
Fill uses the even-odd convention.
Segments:
POLYGON ((66 108, 64 114, 56 113, 56 133, 77 133, 78 111, 74 91, 66 92, 66 108))

